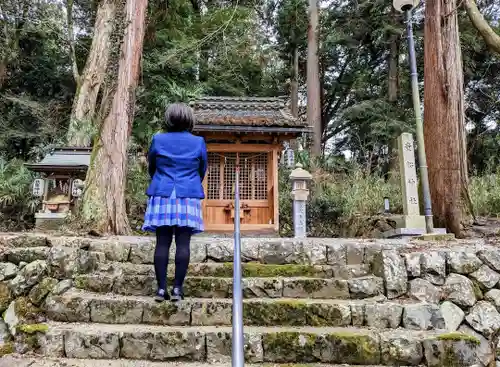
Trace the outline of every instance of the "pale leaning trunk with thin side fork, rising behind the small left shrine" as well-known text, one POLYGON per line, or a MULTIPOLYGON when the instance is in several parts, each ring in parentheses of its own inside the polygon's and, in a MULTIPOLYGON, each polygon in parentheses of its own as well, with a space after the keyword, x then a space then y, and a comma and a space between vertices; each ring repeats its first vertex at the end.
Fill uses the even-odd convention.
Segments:
MULTIPOLYGON (((74 46, 71 47, 73 73, 77 88, 67 134, 67 144, 69 146, 88 147, 91 145, 92 137, 96 133, 94 122, 96 119, 97 97, 106 76, 111 50, 111 36, 115 26, 114 19, 117 15, 116 3, 116 0, 102 0, 99 3, 92 44, 81 76, 78 75, 74 46)), ((68 27, 72 27, 69 19, 68 27)), ((71 33, 70 38, 72 38, 71 33)))

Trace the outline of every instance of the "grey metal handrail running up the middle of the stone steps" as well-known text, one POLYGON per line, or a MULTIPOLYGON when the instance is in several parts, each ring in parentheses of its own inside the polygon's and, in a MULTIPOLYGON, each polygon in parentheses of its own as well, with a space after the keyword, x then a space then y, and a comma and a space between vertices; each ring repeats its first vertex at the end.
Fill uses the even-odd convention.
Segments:
POLYGON ((241 236, 240 236, 240 165, 236 162, 234 185, 234 258, 233 258, 233 338, 232 367, 243 367, 243 290, 241 274, 241 236))

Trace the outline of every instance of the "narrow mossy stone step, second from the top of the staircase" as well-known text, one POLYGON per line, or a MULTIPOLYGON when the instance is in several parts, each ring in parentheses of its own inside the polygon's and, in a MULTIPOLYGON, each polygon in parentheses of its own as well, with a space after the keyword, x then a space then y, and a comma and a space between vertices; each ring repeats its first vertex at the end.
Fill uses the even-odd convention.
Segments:
MULTIPOLYGON (((149 275, 154 276, 154 267, 150 264, 131 264, 123 262, 99 263, 97 272, 105 274, 122 275, 149 275)), ((314 277, 314 278, 339 278, 351 279, 370 275, 370 266, 357 265, 304 265, 284 264, 272 265, 248 262, 242 264, 243 277, 314 277)), ((174 265, 169 265, 168 274, 174 274, 174 265)), ((194 277, 221 277, 233 276, 233 263, 192 263, 189 265, 188 274, 194 277)))

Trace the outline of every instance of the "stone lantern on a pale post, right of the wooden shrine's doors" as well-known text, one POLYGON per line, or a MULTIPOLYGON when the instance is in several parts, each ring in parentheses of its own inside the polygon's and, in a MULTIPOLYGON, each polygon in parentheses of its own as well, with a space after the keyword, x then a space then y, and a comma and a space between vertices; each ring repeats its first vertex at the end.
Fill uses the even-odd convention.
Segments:
POLYGON ((312 176, 302 167, 302 164, 297 163, 295 169, 290 174, 290 179, 292 180, 293 231, 295 238, 305 238, 307 236, 306 201, 309 197, 307 186, 312 176))

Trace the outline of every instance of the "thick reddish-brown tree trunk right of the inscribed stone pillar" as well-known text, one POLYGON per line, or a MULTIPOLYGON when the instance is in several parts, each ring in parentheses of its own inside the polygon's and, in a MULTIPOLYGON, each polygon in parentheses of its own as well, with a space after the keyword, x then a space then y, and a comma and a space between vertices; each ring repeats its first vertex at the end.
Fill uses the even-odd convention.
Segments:
POLYGON ((462 236, 468 192, 462 54, 455 0, 425 8, 424 135, 435 224, 462 236))

